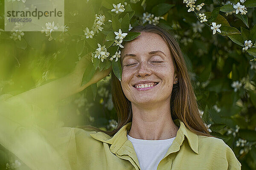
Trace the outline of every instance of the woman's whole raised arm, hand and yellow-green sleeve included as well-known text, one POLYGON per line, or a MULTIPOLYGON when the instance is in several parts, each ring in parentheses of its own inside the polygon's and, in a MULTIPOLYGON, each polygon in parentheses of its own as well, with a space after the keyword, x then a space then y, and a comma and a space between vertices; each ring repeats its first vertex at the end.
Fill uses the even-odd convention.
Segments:
POLYGON ((72 162, 67 156, 72 155, 68 150, 70 142, 76 140, 72 128, 45 130, 37 125, 37 119, 38 115, 51 114, 47 110, 48 104, 82 91, 111 71, 111 68, 97 71, 90 82, 81 87, 88 62, 82 57, 74 71, 65 77, 16 96, 0 96, 0 144, 32 170, 71 170, 72 162))

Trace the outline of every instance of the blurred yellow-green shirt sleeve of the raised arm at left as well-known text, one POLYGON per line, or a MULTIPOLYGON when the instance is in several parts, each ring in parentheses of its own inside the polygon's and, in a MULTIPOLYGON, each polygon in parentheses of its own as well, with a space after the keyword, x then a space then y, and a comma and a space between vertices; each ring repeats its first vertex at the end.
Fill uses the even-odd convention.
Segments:
POLYGON ((71 170, 67 160, 72 128, 38 126, 41 108, 19 98, 0 96, 0 144, 31 170, 71 170))

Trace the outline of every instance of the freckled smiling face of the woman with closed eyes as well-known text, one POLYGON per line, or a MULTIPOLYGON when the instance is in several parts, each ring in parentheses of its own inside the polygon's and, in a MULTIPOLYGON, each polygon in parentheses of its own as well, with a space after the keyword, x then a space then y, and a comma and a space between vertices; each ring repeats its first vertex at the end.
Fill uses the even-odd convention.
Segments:
POLYGON ((170 101, 176 74, 172 55, 163 38, 143 32, 126 42, 121 53, 122 90, 137 105, 170 101))

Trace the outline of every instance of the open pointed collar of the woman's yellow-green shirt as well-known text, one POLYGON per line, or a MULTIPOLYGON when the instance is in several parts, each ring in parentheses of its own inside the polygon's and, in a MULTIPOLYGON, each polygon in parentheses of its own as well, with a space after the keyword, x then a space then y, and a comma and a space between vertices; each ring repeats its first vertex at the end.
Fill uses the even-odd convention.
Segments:
MULTIPOLYGON (((175 124, 179 127, 175 139, 181 145, 184 141, 184 136, 188 139, 189 146, 191 149, 198 154, 198 135, 187 129, 180 119, 174 120, 175 124)), ((128 140, 127 131, 131 129, 131 123, 128 122, 123 127, 121 127, 114 136, 109 136, 103 132, 92 132, 90 136, 94 139, 111 144, 110 150, 112 153, 116 153, 117 150, 122 147, 122 145, 128 140)))

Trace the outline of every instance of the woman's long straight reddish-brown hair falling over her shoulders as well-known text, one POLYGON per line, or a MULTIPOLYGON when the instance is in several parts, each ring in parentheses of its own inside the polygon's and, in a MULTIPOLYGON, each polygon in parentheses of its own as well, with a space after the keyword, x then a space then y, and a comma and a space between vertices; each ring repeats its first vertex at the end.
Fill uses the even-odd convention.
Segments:
MULTIPOLYGON (((166 31, 159 26, 147 24, 146 26, 138 25, 130 31, 150 32, 159 34, 166 41, 173 56, 175 72, 178 77, 178 83, 173 85, 171 95, 171 113, 172 119, 180 119, 184 125, 193 133, 203 136, 210 135, 204 121, 201 119, 198 111, 197 99, 189 79, 186 63, 183 58, 180 46, 171 31, 166 31)), ((93 126, 84 126, 91 130, 101 131, 109 136, 113 136, 121 127, 132 121, 131 102, 125 97, 122 91, 121 83, 111 72, 111 94, 113 105, 117 113, 117 127, 113 131, 105 131, 93 126)), ((215 137, 215 136, 212 136, 215 137)))

